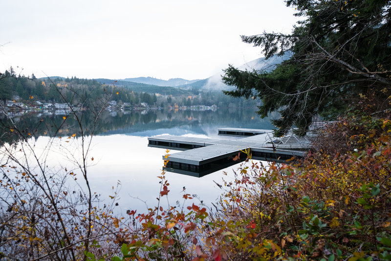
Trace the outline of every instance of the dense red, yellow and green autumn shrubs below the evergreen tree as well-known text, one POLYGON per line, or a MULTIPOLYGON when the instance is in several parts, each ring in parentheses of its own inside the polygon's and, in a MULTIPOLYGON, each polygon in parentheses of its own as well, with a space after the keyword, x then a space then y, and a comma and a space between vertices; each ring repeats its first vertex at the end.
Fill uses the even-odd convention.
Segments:
POLYGON ((223 182, 205 247, 214 242, 228 260, 390 260, 391 122, 382 113, 341 118, 323 146, 333 133, 346 144, 300 164, 249 160, 223 182))

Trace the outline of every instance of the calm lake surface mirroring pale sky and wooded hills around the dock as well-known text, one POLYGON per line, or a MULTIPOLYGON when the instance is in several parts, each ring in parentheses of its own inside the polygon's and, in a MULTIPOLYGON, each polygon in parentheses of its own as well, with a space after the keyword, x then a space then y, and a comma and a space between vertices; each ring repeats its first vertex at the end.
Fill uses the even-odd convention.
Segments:
MULTIPOLYGON (((276 115, 277 116, 277 115, 276 115)), ((44 148, 50 134, 60 126, 66 112, 20 112, 13 119, 20 128, 38 126, 32 133, 37 150, 44 148), (39 122, 46 123, 38 124, 39 122), (45 131, 45 130, 49 131, 45 131)), ((83 122, 88 122, 91 115, 84 115, 83 122)), ((77 133, 75 140, 80 140, 80 133, 71 119, 57 133, 63 139, 53 143, 53 152, 47 156, 47 162, 53 166, 67 166, 69 149, 66 136, 77 133)), ((218 128, 273 129, 269 118, 261 119, 254 109, 206 109, 206 110, 144 110, 144 111, 108 111, 100 117, 96 135, 92 137, 91 151, 88 158, 88 178, 92 190, 109 201, 113 196, 112 187, 120 184, 117 211, 125 213, 128 209, 145 210, 146 205, 157 204, 160 192, 160 179, 163 166, 164 149, 148 147, 147 137, 161 134, 188 135, 195 137, 217 138, 218 128)), ((35 127, 34 127, 35 128, 35 127)), ((218 136, 218 138, 227 138, 218 136)), ((170 153, 176 151, 172 150, 170 153)), ((207 206, 211 206, 222 191, 215 184, 222 178, 234 179, 234 172, 239 164, 208 174, 193 177, 183 174, 166 173, 170 193, 168 202, 174 205, 182 198, 183 187, 186 193, 197 195, 207 206), (224 172, 227 174, 225 175, 224 172)), ((166 201, 165 201, 166 202, 166 201)), ((168 203, 166 203, 168 204, 168 203)))

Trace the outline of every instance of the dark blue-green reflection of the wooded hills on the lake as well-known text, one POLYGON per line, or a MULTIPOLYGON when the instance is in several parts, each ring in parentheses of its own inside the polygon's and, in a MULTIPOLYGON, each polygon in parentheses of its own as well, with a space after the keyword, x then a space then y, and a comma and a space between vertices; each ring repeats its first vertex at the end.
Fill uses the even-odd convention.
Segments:
MULTIPOLYGON (((83 128, 88 134, 95 114, 91 111, 79 111, 83 128)), ((9 118, 1 116, 2 142, 12 143, 15 138, 11 121, 18 130, 29 133, 31 137, 76 133, 80 135, 75 115, 67 110, 12 111, 9 118), (66 117, 66 119, 64 119, 66 117), (61 130, 59 129, 61 126, 61 130)), ((152 136, 162 133, 182 135, 196 133, 217 134, 217 128, 236 127, 254 129, 272 129, 269 118, 261 119, 253 109, 217 109, 212 110, 105 110, 97 122, 95 135, 127 134, 152 136), (170 130, 170 131, 169 131, 170 130)))

